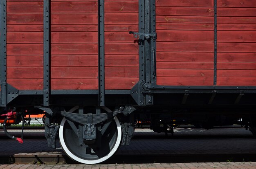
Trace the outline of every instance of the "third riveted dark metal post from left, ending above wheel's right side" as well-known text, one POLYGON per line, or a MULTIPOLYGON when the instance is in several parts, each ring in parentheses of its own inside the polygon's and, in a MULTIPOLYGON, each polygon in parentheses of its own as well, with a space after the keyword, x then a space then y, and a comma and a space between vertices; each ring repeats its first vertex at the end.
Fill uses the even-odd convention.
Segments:
POLYGON ((99 105, 105 105, 104 0, 99 0, 99 105))

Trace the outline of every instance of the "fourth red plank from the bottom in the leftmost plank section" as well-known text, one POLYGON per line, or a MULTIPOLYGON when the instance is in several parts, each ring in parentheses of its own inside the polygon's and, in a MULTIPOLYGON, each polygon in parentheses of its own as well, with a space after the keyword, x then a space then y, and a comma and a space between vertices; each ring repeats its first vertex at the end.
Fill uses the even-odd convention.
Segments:
POLYGON ((7 44, 7 55, 43 55, 43 44, 7 44))

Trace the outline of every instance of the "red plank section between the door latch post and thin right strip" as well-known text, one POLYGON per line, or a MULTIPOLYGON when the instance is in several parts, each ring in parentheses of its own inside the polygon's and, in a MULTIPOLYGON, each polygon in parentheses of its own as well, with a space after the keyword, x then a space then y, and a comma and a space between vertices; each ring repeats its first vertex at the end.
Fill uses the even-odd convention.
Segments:
POLYGON ((157 85, 213 85, 213 0, 157 0, 157 85))

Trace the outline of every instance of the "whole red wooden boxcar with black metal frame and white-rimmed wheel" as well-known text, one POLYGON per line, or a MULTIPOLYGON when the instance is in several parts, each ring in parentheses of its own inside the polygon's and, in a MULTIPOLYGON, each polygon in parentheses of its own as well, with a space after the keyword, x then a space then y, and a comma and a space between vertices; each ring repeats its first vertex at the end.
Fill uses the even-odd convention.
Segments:
POLYGON ((128 145, 136 120, 256 134, 254 0, 1 0, 0 33, 1 114, 45 111, 48 145, 59 132, 79 162, 128 145))

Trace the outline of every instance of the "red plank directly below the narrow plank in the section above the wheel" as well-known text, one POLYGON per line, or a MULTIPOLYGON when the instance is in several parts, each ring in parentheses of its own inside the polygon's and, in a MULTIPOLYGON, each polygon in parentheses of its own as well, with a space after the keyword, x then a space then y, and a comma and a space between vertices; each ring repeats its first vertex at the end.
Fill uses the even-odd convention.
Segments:
POLYGON ((98 32, 52 32, 52 43, 98 43, 98 32))

